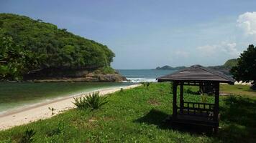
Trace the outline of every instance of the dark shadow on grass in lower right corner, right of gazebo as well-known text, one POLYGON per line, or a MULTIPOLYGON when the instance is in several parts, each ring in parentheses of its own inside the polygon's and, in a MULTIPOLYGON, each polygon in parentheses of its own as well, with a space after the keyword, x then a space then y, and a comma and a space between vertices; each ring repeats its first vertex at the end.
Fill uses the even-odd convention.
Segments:
POLYGON ((220 107, 223 142, 256 142, 256 99, 232 96, 220 107))

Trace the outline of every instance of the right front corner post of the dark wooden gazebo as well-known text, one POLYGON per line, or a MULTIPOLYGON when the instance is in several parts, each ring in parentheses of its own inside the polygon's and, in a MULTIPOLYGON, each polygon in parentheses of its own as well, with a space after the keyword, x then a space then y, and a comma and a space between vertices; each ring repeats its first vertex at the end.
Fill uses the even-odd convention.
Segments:
POLYGON ((217 122, 214 127, 214 132, 218 132, 219 128, 219 83, 215 85, 215 99, 214 99, 214 122, 217 122))

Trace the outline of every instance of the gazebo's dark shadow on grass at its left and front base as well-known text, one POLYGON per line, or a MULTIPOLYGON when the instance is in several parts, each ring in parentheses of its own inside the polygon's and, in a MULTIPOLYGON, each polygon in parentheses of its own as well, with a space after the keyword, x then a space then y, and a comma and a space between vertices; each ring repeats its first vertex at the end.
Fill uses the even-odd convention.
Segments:
POLYGON ((161 112, 156 109, 151 109, 144 117, 141 117, 134 122, 155 124, 160 129, 173 129, 180 132, 189 132, 191 134, 211 134, 211 129, 196 125, 188 124, 172 124, 170 114, 161 112))

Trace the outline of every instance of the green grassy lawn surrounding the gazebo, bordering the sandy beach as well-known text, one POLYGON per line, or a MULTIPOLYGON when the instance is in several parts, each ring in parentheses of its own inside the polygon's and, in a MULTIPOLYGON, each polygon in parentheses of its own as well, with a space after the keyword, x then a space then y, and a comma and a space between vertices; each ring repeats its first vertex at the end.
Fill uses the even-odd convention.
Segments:
MULTIPOLYGON (((237 93, 228 85, 221 85, 222 89, 237 93)), ((35 142, 256 142, 256 97, 255 92, 246 92, 245 96, 220 97, 218 134, 165 124, 163 120, 172 112, 170 85, 165 83, 110 94, 109 102, 93 112, 71 109, 1 131, 0 142, 19 142, 26 129, 35 131, 35 142)), ((185 100, 201 102, 201 97, 186 94, 185 100)))

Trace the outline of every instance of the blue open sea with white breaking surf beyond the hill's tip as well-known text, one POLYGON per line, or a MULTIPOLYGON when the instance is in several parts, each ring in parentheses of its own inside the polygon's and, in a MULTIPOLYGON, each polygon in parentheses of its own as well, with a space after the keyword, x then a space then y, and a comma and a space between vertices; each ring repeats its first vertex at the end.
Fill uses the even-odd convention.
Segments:
POLYGON ((171 74, 176 70, 117 69, 117 71, 132 82, 156 82, 157 77, 171 74))

